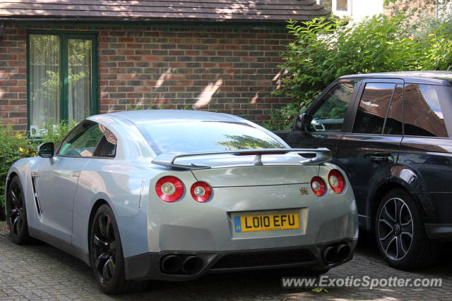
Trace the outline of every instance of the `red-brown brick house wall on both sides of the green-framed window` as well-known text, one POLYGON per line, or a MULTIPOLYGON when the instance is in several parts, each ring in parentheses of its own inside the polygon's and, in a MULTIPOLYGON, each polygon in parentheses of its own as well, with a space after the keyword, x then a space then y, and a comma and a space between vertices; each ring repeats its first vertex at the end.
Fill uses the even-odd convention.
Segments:
MULTIPOLYGON (((32 29, 40 29, 33 27, 32 29)), ((83 30, 83 28, 58 28, 83 30)), ((90 29, 93 30, 93 29, 90 29)), ((97 28, 100 113, 202 109, 262 123, 291 99, 274 97, 290 36, 271 30, 97 28)), ((0 41, 0 116, 26 128, 26 31, 0 41)))

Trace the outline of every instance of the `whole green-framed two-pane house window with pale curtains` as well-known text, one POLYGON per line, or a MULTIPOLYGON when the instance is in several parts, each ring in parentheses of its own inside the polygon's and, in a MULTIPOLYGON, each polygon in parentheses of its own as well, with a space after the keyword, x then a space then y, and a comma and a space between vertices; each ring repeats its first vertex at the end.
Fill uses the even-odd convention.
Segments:
POLYGON ((97 38, 71 32, 28 32, 28 125, 83 121, 97 113, 97 38))

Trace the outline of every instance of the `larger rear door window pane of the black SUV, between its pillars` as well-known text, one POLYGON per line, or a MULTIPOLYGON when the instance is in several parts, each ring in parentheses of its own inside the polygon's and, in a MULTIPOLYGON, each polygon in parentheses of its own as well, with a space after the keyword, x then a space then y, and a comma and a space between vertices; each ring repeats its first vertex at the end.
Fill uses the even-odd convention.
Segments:
POLYGON ((396 85, 368 83, 356 113, 353 133, 381 134, 384 118, 396 85))

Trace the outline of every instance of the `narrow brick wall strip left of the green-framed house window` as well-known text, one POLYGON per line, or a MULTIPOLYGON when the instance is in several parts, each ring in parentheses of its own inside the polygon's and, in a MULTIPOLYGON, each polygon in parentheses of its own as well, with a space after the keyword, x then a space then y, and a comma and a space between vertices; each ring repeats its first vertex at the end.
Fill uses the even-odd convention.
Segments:
POLYGON ((26 34, 7 26, 0 41, 0 118, 16 130, 27 126, 26 34))

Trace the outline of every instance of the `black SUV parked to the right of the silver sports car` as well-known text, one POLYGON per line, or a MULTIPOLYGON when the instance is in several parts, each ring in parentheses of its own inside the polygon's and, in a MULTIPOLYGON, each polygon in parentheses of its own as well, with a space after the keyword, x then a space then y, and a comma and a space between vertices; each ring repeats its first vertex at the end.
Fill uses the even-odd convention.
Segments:
POLYGON ((343 76, 277 134, 331 149, 391 266, 428 266, 452 240, 452 72, 343 76))

